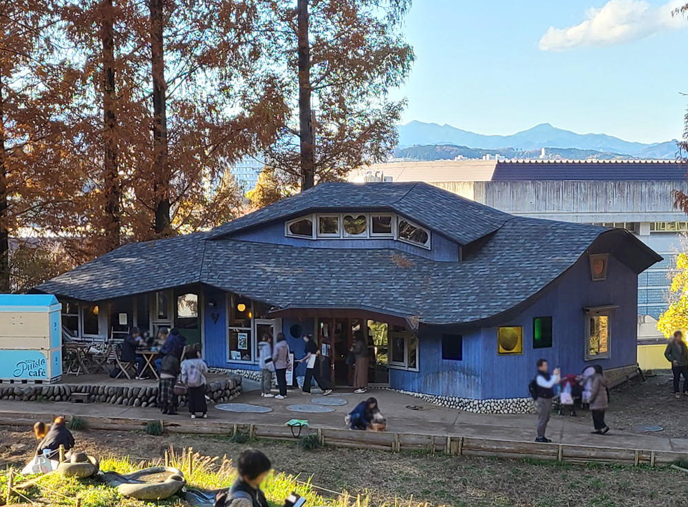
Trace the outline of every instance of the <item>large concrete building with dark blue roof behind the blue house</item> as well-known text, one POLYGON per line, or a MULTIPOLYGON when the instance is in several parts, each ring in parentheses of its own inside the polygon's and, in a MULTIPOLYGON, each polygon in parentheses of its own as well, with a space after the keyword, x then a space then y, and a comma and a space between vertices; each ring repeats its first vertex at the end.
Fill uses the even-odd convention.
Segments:
MULTIPOLYGON (((674 189, 688 192, 685 164, 663 160, 449 160, 377 164, 354 181, 383 177, 428 182, 522 217, 625 228, 663 261, 638 279, 638 339, 661 343, 656 319, 667 308, 671 258, 688 217, 674 208, 674 189)), ((639 352, 643 356, 644 351, 639 352)), ((666 367, 663 356, 652 365, 666 367)))

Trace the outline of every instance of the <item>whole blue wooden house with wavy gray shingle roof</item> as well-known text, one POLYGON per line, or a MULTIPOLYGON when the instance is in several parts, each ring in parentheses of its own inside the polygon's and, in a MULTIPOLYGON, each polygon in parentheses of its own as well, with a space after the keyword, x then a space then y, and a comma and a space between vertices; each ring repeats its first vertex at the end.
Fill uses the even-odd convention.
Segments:
MULTIPOLYGON (((303 334, 349 385, 461 400, 527 396, 535 362, 636 364, 637 277, 661 258, 626 230, 515 217, 422 183, 323 183, 204 233, 127 244, 39 287, 76 339, 178 327, 209 365, 257 370, 257 340, 303 334)), ((299 372, 297 371, 297 375, 299 372)))

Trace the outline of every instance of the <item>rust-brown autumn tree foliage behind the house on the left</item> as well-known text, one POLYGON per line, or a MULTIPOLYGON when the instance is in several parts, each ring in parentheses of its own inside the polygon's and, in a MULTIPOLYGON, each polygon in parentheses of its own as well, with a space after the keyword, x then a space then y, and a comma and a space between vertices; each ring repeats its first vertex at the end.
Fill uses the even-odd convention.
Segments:
POLYGON ((413 61, 408 6, 0 0, 0 292, 232 219, 250 206, 229 171, 246 156, 269 165, 256 206, 303 171, 338 179, 385 156, 403 105, 387 93, 413 61))

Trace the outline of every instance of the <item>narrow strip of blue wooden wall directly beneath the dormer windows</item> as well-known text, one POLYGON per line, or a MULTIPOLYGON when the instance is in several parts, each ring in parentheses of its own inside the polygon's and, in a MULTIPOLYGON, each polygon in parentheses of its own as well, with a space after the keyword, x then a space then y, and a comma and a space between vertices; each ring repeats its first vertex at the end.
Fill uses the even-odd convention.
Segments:
POLYGON ((431 250, 413 246, 403 241, 395 241, 394 239, 300 239, 286 237, 284 235, 283 223, 272 224, 257 230, 249 230, 245 233, 238 233, 232 239, 310 248, 396 248, 396 250, 401 250, 402 252, 409 252, 436 261, 459 260, 458 244, 434 232, 431 233, 431 250))

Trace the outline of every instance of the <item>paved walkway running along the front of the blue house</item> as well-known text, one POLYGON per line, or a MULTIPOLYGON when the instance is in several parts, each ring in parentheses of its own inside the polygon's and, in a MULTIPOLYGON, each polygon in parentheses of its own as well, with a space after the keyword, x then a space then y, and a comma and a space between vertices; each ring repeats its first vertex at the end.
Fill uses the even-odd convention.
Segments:
MULTIPOLYGON (((275 398, 261 398, 255 389, 255 383, 246 383, 244 394, 235 402, 258 404, 270 407, 269 413, 234 413, 220 411, 211 406, 209 419, 240 424, 275 424, 283 425, 292 418, 307 419, 311 427, 315 428, 344 428, 343 418, 353 407, 367 398, 378 398, 380 409, 387 418, 387 431, 395 433, 424 433, 433 435, 455 435, 464 437, 489 438, 494 440, 510 440, 517 442, 532 442, 535 438, 535 418, 533 415, 484 415, 466 413, 453 409, 445 409, 429 404, 418 398, 406 396, 394 391, 372 389, 367 394, 334 393, 332 396, 343 398, 347 404, 330 407, 330 413, 297 413, 287 409, 292 404, 309 404, 310 397, 303 396, 300 391, 290 391, 286 400, 275 398), (407 409, 409 405, 422 407, 421 410, 407 409)), ((314 398, 319 397, 314 390, 314 398)), ((182 409, 178 416, 161 416, 157 409, 122 407, 111 404, 76 404, 72 402, 20 402, 0 401, 0 418, 21 415, 21 413, 65 413, 74 416, 100 416, 130 419, 164 419, 182 420, 188 414, 182 409)), ((588 418, 579 420, 570 416, 552 415, 548 429, 548 438, 555 443, 603 445, 621 449, 645 449, 647 451, 676 451, 688 454, 688 439, 665 438, 661 433, 634 435, 616 431, 608 435, 592 435, 588 418)))

